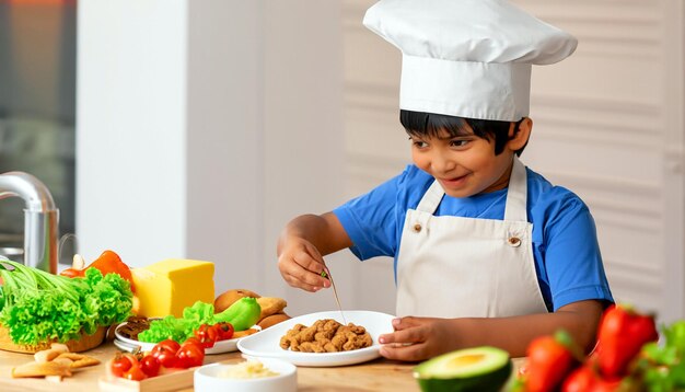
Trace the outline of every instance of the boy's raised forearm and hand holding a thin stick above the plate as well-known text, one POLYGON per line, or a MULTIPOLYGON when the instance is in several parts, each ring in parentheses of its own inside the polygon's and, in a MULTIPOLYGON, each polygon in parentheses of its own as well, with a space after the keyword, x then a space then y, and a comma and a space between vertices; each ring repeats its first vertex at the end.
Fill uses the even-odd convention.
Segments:
POLYGON ((329 280, 321 276, 323 256, 351 245, 333 212, 303 215, 291 220, 278 239, 278 268, 290 286, 317 291, 330 286, 329 280))

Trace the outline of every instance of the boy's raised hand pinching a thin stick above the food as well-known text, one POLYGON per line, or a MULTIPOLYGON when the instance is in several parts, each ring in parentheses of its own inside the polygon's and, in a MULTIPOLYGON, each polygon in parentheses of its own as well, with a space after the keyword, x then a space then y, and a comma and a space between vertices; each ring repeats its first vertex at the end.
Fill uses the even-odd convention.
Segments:
POLYGON ((316 246, 304 239, 292 237, 286 241, 278 257, 278 269, 292 287, 310 292, 330 287, 330 281, 321 275, 324 258, 316 246))

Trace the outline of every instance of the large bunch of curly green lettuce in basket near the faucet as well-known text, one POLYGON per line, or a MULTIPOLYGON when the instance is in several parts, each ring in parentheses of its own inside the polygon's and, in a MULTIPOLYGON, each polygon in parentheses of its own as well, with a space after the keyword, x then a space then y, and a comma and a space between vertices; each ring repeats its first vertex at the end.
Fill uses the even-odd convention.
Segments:
POLYGON ((93 334, 126 320, 132 308, 128 281, 91 268, 83 278, 53 275, 0 260, 0 324, 15 344, 35 345, 93 334))

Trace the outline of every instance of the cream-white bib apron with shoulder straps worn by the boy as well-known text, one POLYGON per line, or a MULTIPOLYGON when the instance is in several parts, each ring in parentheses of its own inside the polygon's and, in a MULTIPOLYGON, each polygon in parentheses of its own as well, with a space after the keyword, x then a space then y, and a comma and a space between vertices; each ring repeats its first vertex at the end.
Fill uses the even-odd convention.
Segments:
POLYGON ((547 313, 535 274, 525 166, 514 158, 504 220, 433 216, 438 181, 409 209, 397 257, 397 315, 547 313))

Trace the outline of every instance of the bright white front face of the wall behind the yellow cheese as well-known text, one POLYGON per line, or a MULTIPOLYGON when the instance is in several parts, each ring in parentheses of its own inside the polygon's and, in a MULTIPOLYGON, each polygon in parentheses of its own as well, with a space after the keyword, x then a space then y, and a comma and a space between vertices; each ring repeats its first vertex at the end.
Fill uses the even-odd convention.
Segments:
POLYGON ((187 7, 79 2, 77 235, 93 260, 133 266, 183 256, 186 230, 187 7))

